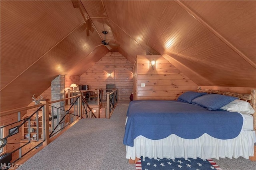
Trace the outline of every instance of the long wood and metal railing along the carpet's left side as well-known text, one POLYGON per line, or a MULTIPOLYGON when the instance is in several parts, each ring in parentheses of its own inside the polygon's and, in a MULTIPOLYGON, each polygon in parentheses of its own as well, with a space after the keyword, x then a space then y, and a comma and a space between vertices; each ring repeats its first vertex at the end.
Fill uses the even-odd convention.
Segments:
MULTIPOLYGON (((12 161, 10 162, 11 164, 17 162, 23 156, 35 148, 38 148, 38 146, 48 145, 61 134, 60 132, 63 132, 64 129, 74 125, 78 119, 96 118, 94 113, 92 113, 92 109, 89 107, 84 97, 82 97, 81 93, 76 96, 60 99, 57 101, 45 100, 41 102, 42 104, 39 105, 22 107, 0 113, 1 117, 17 115, 18 121, 1 127, 1 130, 3 129, 4 131, 4 136, 1 136, 0 147, 7 148, 4 150, 4 153, 7 153, 5 156, 12 157, 12 161), (65 104, 67 103, 66 101, 70 102, 65 104), (34 109, 34 111, 31 112, 31 109, 34 109), (12 131, 9 130, 10 132, 8 133, 6 129, 12 129, 12 131), (24 133, 25 129, 26 133, 24 133), (31 131, 32 129, 36 129, 36 131, 31 131), (28 138, 25 138, 24 134, 26 134, 28 138), (32 134, 36 134, 34 135, 35 137, 33 137, 32 134), (16 144, 20 143, 20 147, 10 147, 13 145, 13 143, 8 143, 8 140, 10 139, 10 136, 12 139, 14 138, 12 135, 16 135, 15 138, 17 138, 18 142, 17 140, 15 141, 16 144), (30 145, 31 147, 28 147, 30 145)), ((9 141, 12 140, 10 139, 9 141)))

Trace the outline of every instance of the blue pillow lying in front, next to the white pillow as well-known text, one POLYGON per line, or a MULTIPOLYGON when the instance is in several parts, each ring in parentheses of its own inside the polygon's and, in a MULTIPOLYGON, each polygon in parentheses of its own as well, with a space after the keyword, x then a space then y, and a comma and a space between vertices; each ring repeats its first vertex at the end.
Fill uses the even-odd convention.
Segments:
POLYGON ((218 95, 218 94, 206 94, 201 97, 197 97, 192 100, 192 104, 206 107, 206 109, 212 111, 220 109, 226 104, 238 99, 237 97, 218 95))

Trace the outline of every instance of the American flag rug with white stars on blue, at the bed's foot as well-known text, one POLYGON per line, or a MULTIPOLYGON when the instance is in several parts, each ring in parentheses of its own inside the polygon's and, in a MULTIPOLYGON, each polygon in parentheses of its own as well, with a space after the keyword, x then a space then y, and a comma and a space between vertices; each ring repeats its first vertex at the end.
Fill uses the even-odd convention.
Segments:
POLYGON ((222 170, 213 160, 202 160, 200 158, 163 158, 150 159, 140 158, 136 162, 136 170, 222 170))

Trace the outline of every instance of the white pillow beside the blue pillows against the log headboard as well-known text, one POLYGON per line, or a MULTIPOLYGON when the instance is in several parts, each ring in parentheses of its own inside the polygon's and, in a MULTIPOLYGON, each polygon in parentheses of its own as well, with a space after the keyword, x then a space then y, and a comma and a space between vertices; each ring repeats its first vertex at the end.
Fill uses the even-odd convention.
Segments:
POLYGON ((240 112, 240 113, 249 113, 254 114, 254 109, 249 102, 243 100, 234 100, 227 105, 221 107, 220 109, 229 111, 229 112, 240 112))

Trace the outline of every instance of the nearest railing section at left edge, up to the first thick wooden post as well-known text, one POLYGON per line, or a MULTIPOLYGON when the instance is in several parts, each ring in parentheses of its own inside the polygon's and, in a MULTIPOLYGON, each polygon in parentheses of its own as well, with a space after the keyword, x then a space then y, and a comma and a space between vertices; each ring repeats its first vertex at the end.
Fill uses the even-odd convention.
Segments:
MULTIPOLYGON (((31 135, 31 131, 30 131, 30 128, 32 127, 31 126, 31 122, 33 119, 31 119, 32 117, 36 117, 37 120, 34 121, 34 123, 36 123, 36 125, 38 125, 38 112, 41 111, 42 112, 42 126, 45 127, 45 113, 46 113, 46 104, 40 104, 40 105, 35 105, 35 106, 30 106, 30 107, 21 107, 21 108, 18 108, 18 109, 13 109, 13 110, 10 110, 10 111, 4 111, 4 112, 1 112, 0 115, 1 117, 4 117, 4 116, 10 116, 10 115, 13 115, 15 114, 17 116, 17 120, 18 121, 15 121, 15 122, 12 122, 10 124, 7 124, 7 125, 4 125, 1 127, 1 130, 2 132, 4 132, 3 136, 1 137, 1 148, 4 149, 4 153, 6 157, 10 158, 12 160, 12 162, 9 162, 9 163, 12 163, 14 164, 15 162, 17 162, 20 158, 22 158, 23 156, 25 156, 26 154, 28 154, 28 152, 30 152, 31 150, 33 150, 34 148, 38 147, 39 145, 42 145, 42 144, 46 144, 46 136, 45 136, 45 131, 43 131, 43 136, 42 138, 39 138, 39 130, 37 128, 36 132, 37 132, 37 135, 35 138, 33 138, 32 140, 32 136, 31 135), (29 115, 28 117, 26 117, 25 119, 22 119, 22 114, 24 115, 24 113, 30 111, 31 109, 35 109, 36 111, 32 112, 31 115, 29 115), (17 140, 15 140, 16 142, 15 143, 8 143, 8 140, 11 140, 13 138, 12 135, 16 135, 16 137, 18 139, 20 139, 20 137, 18 137, 18 134, 22 134, 20 132, 20 129, 24 129, 24 126, 27 125, 27 128, 28 128, 28 135, 30 136, 26 141, 24 140, 24 142, 17 142, 17 140), (13 126, 15 126, 13 128, 13 126), (9 130, 6 130, 6 129, 9 129, 9 130), (9 133, 8 133, 9 131, 9 133), (8 133, 8 134, 7 134, 8 133), (20 144, 19 144, 20 143, 20 144), (28 146, 28 144, 30 143, 34 143, 33 144, 33 147, 31 147, 30 150, 28 151, 25 151, 25 152, 22 152, 22 148, 28 146), (20 147, 10 147, 8 145, 14 145, 14 144, 19 144, 20 147), (7 150, 7 146, 8 148, 11 148, 10 150, 7 150), (13 154, 14 155, 17 155, 17 152, 18 152, 18 156, 12 156, 13 154)), ((45 128, 43 128, 45 130, 45 128)), ((22 136, 24 137, 24 136, 22 136)), ((14 140, 12 140, 14 141, 14 140)), ((1 163, 8 163, 8 162, 2 162, 1 160, 1 163)), ((1 164, 2 165, 2 164, 1 164)), ((1 167, 2 168, 2 167, 1 167)))

